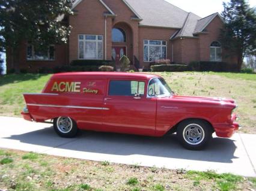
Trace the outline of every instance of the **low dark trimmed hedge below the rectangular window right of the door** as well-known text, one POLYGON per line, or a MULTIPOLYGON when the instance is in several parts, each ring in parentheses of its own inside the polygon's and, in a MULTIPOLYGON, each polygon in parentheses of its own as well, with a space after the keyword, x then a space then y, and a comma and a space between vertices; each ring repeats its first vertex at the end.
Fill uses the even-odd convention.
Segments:
POLYGON ((188 71, 187 65, 154 65, 151 66, 152 72, 184 72, 188 71))

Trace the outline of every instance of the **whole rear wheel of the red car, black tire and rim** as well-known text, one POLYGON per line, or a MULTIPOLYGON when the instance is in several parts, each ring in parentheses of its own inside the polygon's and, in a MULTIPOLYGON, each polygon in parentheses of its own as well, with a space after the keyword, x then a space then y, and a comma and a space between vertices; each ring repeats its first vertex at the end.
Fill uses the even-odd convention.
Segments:
POLYGON ((78 126, 70 117, 58 117, 53 120, 53 128, 60 137, 74 138, 78 134, 78 126))

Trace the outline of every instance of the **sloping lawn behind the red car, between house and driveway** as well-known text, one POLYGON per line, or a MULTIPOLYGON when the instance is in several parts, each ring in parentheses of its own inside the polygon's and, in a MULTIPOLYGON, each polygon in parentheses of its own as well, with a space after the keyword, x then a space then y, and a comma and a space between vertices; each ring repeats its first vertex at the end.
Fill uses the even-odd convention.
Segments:
MULTIPOLYGON (((236 99, 242 132, 256 134, 256 74, 216 72, 156 72, 178 95, 236 99)), ((50 75, 20 74, 0 77, 0 115, 20 117, 22 93, 41 92, 50 75)))

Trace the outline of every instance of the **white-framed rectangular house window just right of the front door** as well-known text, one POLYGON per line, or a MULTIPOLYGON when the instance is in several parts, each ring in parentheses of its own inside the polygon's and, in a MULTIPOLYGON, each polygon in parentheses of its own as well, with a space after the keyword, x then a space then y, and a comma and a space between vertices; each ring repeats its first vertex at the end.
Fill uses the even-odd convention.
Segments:
POLYGON ((144 62, 166 59, 166 41, 144 40, 144 62))

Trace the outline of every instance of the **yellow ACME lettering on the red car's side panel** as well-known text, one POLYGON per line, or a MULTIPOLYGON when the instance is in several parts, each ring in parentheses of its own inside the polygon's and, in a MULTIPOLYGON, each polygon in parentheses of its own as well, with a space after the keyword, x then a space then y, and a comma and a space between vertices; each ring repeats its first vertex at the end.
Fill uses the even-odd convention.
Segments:
POLYGON ((52 92, 80 92, 81 82, 56 82, 53 83, 52 92))

